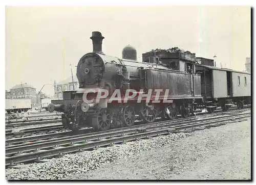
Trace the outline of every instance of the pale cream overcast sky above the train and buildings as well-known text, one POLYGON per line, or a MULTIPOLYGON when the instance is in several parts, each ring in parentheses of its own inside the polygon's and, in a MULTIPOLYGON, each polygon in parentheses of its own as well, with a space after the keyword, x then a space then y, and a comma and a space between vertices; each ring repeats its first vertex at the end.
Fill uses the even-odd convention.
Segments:
MULTIPOLYGON (((121 57, 130 44, 141 60, 143 52, 178 46, 197 57, 217 54, 223 67, 245 70, 250 13, 242 6, 7 7, 6 89, 26 82, 39 91, 69 77, 70 63, 75 75, 79 59, 92 51, 92 31, 105 37, 106 55, 121 57)), ((54 92, 51 86, 42 91, 54 92)))

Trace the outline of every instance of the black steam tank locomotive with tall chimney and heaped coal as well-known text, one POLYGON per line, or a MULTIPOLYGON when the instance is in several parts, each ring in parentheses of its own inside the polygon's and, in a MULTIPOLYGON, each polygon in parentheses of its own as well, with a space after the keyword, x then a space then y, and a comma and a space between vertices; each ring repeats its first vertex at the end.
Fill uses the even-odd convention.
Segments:
MULTIPOLYGON (((136 120, 151 123, 157 117, 188 117, 199 107, 213 111, 221 105, 227 110, 232 104, 228 96, 216 98, 216 93, 214 96, 205 91, 205 79, 210 73, 207 66, 196 64, 195 55, 165 52, 144 56, 146 60, 139 62, 136 49, 128 45, 119 59, 102 52, 104 37, 100 32, 92 32, 90 39, 93 52, 82 56, 77 65, 79 89, 63 91, 62 100, 52 100, 48 105, 49 112, 63 113, 64 127, 107 130, 132 126, 136 120), (101 98, 97 101, 98 96, 101 98)), ((236 101, 243 103, 245 96, 236 101)))

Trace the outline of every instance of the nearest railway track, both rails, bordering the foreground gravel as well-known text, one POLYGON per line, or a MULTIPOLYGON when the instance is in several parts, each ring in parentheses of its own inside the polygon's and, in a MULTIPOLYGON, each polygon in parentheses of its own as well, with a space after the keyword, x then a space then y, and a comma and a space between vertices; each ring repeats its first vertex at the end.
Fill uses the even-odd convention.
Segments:
POLYGON ((6 166, 17 163, 31 162, 62 155, 65 153, 109 146, 125 141, 172 134, 178 131, 194 131, 212 126, 219 126, 238 119, 250 117, 250 113, 237 113, 218 117, 187 121, 160 121, 131 127, 117 128, 77 136, 37 141, 20 145, 6 146, 6 166))

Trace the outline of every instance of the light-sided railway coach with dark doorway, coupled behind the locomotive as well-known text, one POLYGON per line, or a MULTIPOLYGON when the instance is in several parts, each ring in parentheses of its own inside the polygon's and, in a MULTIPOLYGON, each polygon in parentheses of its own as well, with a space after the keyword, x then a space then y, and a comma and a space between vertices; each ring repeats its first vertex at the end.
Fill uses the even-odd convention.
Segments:
POLYGON ((217 107, 226 111, 233 103, 239 109, 244 104, 250 104, 249 73, 200 64, 196 65, 196 72, 201 73, 201 94, 208 112, 213 112, 217 107))

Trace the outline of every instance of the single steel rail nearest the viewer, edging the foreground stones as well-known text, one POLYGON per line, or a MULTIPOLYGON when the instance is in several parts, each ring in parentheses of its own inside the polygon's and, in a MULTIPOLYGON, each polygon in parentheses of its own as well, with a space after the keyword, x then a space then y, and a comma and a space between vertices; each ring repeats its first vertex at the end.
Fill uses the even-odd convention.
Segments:
MULTIPOLYGON (((217 121, 210 121, 210 122, 202 122, 198 124, 190 124, 190 125, 184 125, 184 126, 178 126, 178 127, 164 127, 160 128, 158 130, 152 130, 152 131, 146 131, 143 133, 136 133, 133 135, 127 135, 127 136, 121 136, 121 137, 113 137, 110 139, 102 139, 99 141, 84 141, 84 143, 80 144, 74 144, 71 143, 71 146, 66 146, 66 147, 56 147, 53 149, 49 150, 37 150, 34 153, 28 153, 28 154, 20 154, 16 156, 11 156, 11 157, 6 157, 6 166, 13 164, 13 163, 23 163, 23 162, 30 162, 30 161, 35 161, 40 158, 45 158, 45 157, 53 157, 59 154, 63 153, 70 153, 70 152, 77 152, 77 151, 82 151, 84 149, 93 149, 96 146, 108 146, 108 145, 113 145, 116 143, 120 142, 125 142, 125 141, 132 141, 132 140, 137 140, 137 139, 142 139, 146 137, 153 137, 153 136, 159 136, 159 135, 164 135, 164 134, 171 134, 180 130, 185 130, 189 128, 197 128, 197 127, 206 127, 206 126, 218 126, 217 123, 223 122, 223 121, 233 121, 236 119, 242 119, 245 117, 250 117, 251 115, 236 115, 233 116, 232 118, 226 118, 226 119, 220 119, 217 121)), ((226 123, 219 123, 220 124, 226 124, 226 123)))

